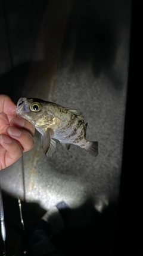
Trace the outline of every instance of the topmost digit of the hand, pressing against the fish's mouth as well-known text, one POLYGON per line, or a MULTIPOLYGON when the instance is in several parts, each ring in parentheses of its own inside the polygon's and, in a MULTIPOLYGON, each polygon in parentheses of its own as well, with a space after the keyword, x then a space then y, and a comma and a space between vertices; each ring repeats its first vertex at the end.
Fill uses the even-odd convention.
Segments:
POLYGON ((0 95, 0 113, 15 115, 16 106, 8 95, 0 95))

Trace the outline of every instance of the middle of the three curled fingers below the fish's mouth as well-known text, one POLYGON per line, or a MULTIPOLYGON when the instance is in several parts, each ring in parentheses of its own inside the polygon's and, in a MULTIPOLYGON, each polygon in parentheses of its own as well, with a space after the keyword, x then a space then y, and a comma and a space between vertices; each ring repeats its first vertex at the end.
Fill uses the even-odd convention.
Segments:
POLYGON ((14 138, 18 141, 18 143, 20 143, 21 147, 23 148, 23 152, 33 148, 34 141, 32 135, 29 132, 25 131, 24 129, 18 129, 15 127, 8 127, 7 132, 11 138, 14 138))

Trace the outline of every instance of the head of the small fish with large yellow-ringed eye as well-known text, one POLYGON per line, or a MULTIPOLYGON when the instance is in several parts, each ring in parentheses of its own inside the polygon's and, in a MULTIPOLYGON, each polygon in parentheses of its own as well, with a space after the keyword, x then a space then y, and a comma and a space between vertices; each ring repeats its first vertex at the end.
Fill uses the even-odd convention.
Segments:
POLYGON ((27 119, 33 125, 45 125, 45 101, 36 98, 20 98, 17 102, 16 116, 27 119))

